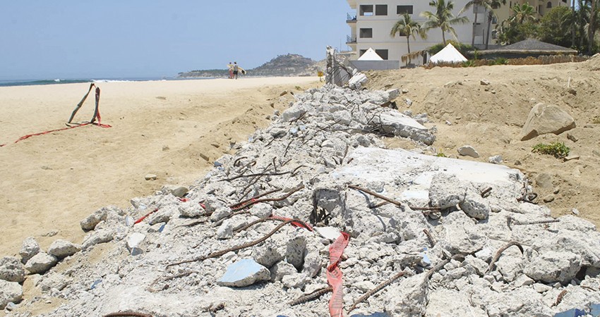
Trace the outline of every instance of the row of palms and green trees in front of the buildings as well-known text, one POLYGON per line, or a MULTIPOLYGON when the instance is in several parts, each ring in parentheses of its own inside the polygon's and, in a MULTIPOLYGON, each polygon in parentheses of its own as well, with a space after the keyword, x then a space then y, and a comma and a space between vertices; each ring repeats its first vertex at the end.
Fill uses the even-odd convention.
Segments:
MULTIPOLYGON (((581 53, 587 52, 592 55, 599 50, 594 41, 597 23, 599 20, 600 0, 575 0, 572 6, 557 6, 552 8, 541 19, 536 16, 535 8, 527 3, 515 4, 510 8, 512 14, 502 23, 496 26, 496 39, 500 44, 512 44, 528 38, 537 38, 543 42, 560 46, 570 46, 581 53), (577 4, 577 5, 576 5, 577 4)), ((432 11, 421 12, 421 16, 427 20, 424 23, 412 20, 408 13, 400 16, 390 35, 395 37, 406 37, 407 56, 411 56, 410 38, 427 39, 427 32, 439 28, 442 32, 443 45, 446 45, 446 33, 450 33, 455 39, 457 34, 452 25, 469 22, 469 18, 460 15, 473 6, 482 7, 487 14, 487 29, 485 47, 488 49, 491 31, 491 21, 498 18, 496 10, 504 6, 506 0, 471 0, 454 15, 454 2, 452 0, 431 0, 429 6, 432 11)), ((475 11, 474 25, 477 23, 479 10, 475 11)), ((473 27, 472 42, 475 44, 475 28, 473 27)), ((407 58, 408 63, 409 58, 407 58)))

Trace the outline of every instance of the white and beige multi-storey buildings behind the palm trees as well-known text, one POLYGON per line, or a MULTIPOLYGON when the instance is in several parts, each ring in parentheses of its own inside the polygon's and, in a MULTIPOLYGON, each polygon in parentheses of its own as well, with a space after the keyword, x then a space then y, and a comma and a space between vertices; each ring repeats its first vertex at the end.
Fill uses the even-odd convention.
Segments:
MULTIPOLYGON (((379 56, 385 60, 400 61, 401 56, 407 54, 406 37, 390 36, 392 26, 400 20, 400 15, 409 13, 411 18, 419 23, 424 23, 426 18, 421 17, 421 12, 431 11, 435 13, 435 8, 429 6, 427 0, 347 0, 350 8, 356 10, 354 14, 348 14, 346 23, 350 26, 351 33, 347 36, 346 44, 354 51, 352 60, 358 59, 370 47, 373 48, 379 56)), ((448 0, 447 0, 448 1, 448 0)), ((455 0, 454 15, 467 4, 469 0, 455 0)), ((498 10, 500 21, 508 18, 510 14, 509 6, 529 2, 540 14, 546 13, 554 6, 568 6, 570 0, 513 0, 506 1, 506 6, 498 10)), ((453 25, 458 40, 465 44, 471 44, 473 36, 473 27, 475 28, 475 44, 481 46, 485 43, 487 28, 487 14, 482 7, 472 7, 461 16, 469 18, 468 23, 453 25), (477 25, 474 25, 475 10, 478 11, 477 25)), ((496 27, 496 20, 493 20, 491 29, 496 27)), ((445 38, 454 39, 450 33, 445 34, 445 38)), ((442 31, 439 28, 429 30, 427 39, 421 39, 418 35, 416 39, 411 37, 410 49, 412 52, 427 49, 430 46, 442 42, 442 31)), ((490 39, 490 44, 493 40, 490 39)), ((421 61, 413 60, 412 63, 421 61)))

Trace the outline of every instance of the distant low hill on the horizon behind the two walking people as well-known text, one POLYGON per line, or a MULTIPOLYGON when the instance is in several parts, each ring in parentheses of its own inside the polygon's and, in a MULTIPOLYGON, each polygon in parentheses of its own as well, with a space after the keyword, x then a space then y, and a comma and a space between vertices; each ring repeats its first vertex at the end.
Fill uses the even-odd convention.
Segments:
MULTIPOLYGON (((316 76, 323 70, 323 63, 313 61, 298 54, 280 55, 257 68, 246 69, 248 76, 316 76)), ((228 77, 227 69, 191 70, 179 73, 179 78, 187 77, 228 77)))

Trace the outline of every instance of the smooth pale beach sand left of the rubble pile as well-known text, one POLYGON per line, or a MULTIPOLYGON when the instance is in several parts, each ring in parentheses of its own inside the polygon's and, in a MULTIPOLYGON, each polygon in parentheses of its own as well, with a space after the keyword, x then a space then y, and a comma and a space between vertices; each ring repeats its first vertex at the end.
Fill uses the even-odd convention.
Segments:
MULTIPOLYGON (((102 123, 65 128, 89 84, 0 87, 0 255, 23 239, 42 249, 57 239, 81 243, 79 221, 96 209, 129 206, 162 185, 191 185, 235 151, 268 116, 319 85, 316 77, 101 82, 102 123), (204 158, 208 159, 204 159, 204 158), (152 173, 157 180, 145 180, 152 173)), ((74 121, 90 120, 94 96, 74 121)))

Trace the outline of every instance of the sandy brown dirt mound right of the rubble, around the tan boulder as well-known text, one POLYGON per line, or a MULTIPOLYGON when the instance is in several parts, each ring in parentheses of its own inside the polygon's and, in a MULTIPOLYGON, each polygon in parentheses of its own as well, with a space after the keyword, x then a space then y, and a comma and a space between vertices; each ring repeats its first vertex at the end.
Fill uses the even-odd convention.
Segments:
POLYGON ((519 168, 532 180, 549 175, 551 181, 544 186, 534 183, 540 204, 547 204, 554 215, 576 209, 579 216, 600 225, 600 212, 594 207, 600 194, 600 144, 594 137, 600 132, 596 69, 598 56, 548 66, 387 70, 368 73, 368 88, 400 88, 405 92, 397 99, 400 111, 428 113, 427 126, 438 128, 431 154, 457 155, 458 147, 469 144, 481 154, 473 160, 501 155, 505 165, 519 168), (570 113, 577 128, 521 142, 518 136, 525 119, 539 102, 570 113), (579 159, 562 161, 532 153, 541 142, 564 142, 579 159))

